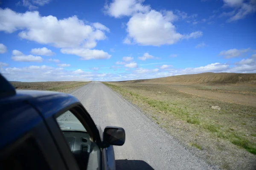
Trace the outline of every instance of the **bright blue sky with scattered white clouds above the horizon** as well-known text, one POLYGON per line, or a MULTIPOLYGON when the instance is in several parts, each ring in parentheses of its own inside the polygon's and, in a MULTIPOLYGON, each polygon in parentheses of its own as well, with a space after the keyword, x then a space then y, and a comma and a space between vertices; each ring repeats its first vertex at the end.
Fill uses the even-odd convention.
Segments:
POLYGON ((256 73, 256 0, 3 0, 0 72, 13 81, 256 73))

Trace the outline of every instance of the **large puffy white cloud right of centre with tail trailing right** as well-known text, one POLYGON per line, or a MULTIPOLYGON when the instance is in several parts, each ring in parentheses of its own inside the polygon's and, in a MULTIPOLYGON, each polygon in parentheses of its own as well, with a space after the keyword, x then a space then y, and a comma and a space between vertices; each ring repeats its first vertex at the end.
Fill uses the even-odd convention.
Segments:
POLYGON ((140 45, 160 46, 174 44, 182 39, 198 38, 203 35, 201 31, 182 35, 176 32, 175 26, 171 23, 172 13, 158 12, 151 10, 143 14, 134 14, 127 23, 128 36, 124 43, 137 43, 140 45))

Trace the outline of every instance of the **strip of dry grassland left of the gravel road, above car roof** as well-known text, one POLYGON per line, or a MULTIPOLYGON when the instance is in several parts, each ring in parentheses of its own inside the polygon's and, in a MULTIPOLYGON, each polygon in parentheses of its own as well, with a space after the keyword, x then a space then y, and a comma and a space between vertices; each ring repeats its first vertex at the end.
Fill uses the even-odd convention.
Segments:
POLYGON ((89 82, 11 82, 16 89, 69 93, 89 82))

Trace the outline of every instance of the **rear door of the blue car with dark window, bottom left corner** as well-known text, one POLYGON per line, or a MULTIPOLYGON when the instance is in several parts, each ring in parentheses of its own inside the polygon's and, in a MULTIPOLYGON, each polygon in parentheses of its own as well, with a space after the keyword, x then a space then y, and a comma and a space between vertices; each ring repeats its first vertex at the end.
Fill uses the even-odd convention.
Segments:
POLYGON ((38 111, 25 101, 2 104, 0 169, 67 170, 38 111))

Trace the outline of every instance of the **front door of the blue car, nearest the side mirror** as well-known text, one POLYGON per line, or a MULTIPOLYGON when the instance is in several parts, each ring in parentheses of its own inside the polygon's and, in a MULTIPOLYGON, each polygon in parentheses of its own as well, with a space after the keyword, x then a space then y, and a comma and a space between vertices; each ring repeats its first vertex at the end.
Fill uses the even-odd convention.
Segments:
POLYGON ((70 170, 106 169, 99 130, 80 103, 49 116, 46 122, 70 170))

